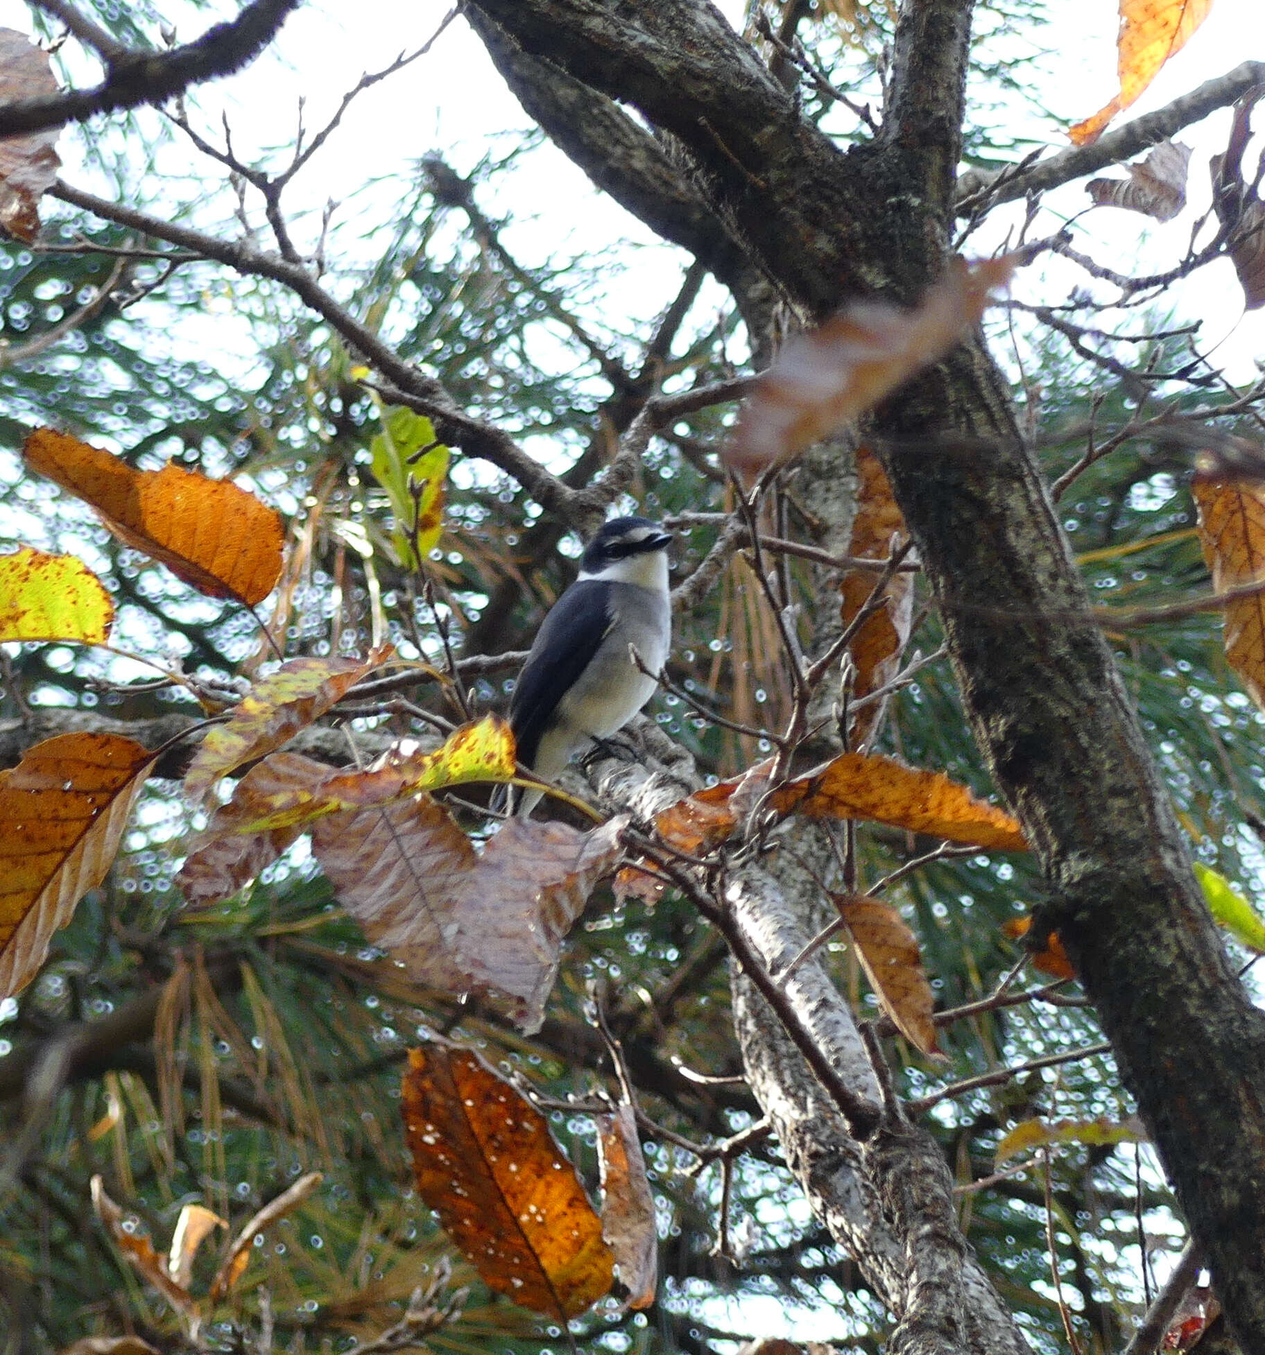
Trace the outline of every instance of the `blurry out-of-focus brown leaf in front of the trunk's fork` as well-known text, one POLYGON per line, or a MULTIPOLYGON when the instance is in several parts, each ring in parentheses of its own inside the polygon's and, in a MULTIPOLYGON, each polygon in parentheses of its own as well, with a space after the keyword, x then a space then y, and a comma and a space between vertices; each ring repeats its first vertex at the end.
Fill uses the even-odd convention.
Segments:
POLYGON ((1011 256, 975 267, 956 259, 912 310, 858 301, 796 335, 747 401, 725 463, 750 482, 873 408, 979 321, 1014 264, 1011 256))

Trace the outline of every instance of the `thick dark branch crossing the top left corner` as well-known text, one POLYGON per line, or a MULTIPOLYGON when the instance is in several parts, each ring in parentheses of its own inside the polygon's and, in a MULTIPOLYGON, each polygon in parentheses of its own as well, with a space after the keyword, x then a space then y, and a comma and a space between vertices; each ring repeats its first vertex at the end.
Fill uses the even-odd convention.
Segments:
MULTIPOLYGON (((0 137, 83 122, 98 112, 161 103, 190 85, 232 75, 263 51, 298 5, 300 0, 252 0, 236 19, 217 23, 195 42, 171 51, 130 51, 113 42, 103 47, 94 37, 91 45, 106 60, 106 79, 92 89, 0 104, 0 137)), ((81 28, 79 24, 72 27, 81 28)))

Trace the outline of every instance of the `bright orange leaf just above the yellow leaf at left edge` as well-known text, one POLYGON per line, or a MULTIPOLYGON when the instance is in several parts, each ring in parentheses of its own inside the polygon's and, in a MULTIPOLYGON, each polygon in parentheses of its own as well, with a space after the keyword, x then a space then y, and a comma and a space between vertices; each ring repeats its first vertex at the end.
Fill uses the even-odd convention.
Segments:
POLYGON ((281 577, 281 518, 228 480, 164 466, 133 470, 53 428, 27 434, 26 463, 89 503, 129 546, 210 598, 254 607, 281 577))

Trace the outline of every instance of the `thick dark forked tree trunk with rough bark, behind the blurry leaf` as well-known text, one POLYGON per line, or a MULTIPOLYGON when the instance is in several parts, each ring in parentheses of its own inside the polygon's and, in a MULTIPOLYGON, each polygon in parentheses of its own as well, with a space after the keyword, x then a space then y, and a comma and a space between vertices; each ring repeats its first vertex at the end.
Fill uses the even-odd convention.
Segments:
MULTIPOLYGON (((633 103, 807 317, 912 299, 948 252, 968 0, 906 0, 889 117, 843 154, 706 0, 477 0, 521 46, 633 103), (933 45, 940 45, 931 50, 933 45), (930 77, 934 83, 929 81, 930 77)), ((1231 972, 1041 476, 979 343, 891 401, 888 472, 972 729, 1245 1351, 1265 1351, 1265 1019, 1231 972), (938 453, 940 434, 995 451, 938 453), (921 444, 915 444, 921 443, 921 444)))

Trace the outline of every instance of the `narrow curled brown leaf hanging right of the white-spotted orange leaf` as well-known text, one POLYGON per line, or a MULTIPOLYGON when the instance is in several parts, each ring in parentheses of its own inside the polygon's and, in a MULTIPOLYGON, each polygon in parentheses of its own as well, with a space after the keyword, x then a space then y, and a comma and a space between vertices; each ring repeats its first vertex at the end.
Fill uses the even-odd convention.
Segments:
POLYGON ((659 1233, 655 1196, 645 1175, 637 1117, 624 1104, 595 1117, 598 1165, 602 1172, 602 1237, 614 1253, 625 1308, 649 1308, 659 1280, 659 1233))

